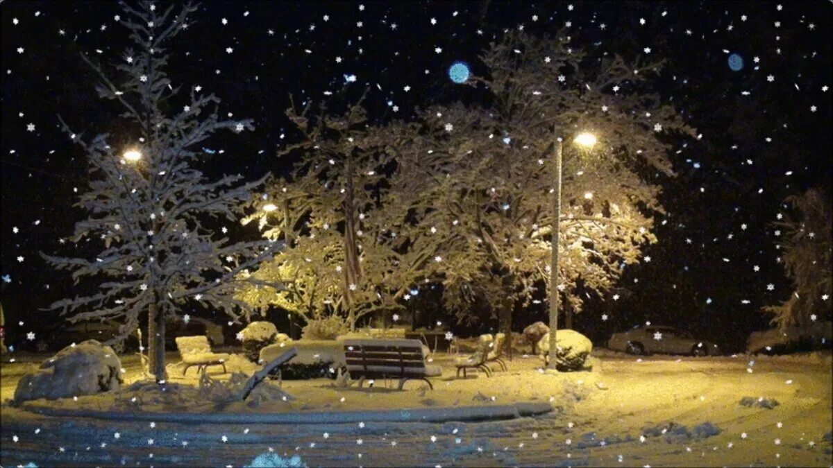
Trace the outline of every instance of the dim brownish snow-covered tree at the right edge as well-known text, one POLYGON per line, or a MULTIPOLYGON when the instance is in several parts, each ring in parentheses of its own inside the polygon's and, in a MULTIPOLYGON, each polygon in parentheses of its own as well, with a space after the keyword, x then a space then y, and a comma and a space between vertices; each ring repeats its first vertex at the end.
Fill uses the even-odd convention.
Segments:
POLYGON ((777 306, 764 307, 774 315, 772 322, 780 328, 808 326, 821 318, 830 319, 833 295, 833 207, 831 194, 813 188, 786 198, 794 211, 776 221, 780 231, 786 275, 795 288, 790 297, 777 306))

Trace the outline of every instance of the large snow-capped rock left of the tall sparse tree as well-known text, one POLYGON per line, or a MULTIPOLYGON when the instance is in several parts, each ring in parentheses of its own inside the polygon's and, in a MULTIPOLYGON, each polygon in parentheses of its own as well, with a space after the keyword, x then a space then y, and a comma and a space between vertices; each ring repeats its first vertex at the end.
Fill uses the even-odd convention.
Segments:
POLYGON ((40 369, 17 382, 14 401, 95 395, 118 390, 122 384, 122 361, 110 346, 95 340, 67 346, 44 361, 40 369))

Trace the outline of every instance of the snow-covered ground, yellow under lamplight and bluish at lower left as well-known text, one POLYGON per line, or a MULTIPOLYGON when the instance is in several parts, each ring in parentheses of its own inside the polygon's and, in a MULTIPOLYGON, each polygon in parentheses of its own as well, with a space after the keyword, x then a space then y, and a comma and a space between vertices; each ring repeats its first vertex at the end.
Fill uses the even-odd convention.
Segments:
MULTIPOLYGON (((0 464, 244 466, 274 451, 309 466, 833 465, 830 356, 601 354, 601 374, 543 375, 540 361, 516 357, 508 372, 466 380, 440 358, 435 391, 418 382, 403 392, 381 383, 371 391, 325 380, 283 384, 297 396, 296 411, 552 399, 549 415, 511 421, 183 425, 47 418, 2 406, 0 464), (744 397, 750 405, 741 405, 744 397)), ((3 399, 26 366, 3 363, 3 399)), ((132 366, 128 359, 128 375, 132 366)))

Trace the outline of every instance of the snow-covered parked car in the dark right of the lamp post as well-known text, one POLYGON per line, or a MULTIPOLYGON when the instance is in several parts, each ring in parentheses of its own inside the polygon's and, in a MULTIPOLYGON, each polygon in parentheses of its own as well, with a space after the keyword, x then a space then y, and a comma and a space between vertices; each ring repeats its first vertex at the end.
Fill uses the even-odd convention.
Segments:
POLYGON ((607 347, 613 351, 625 351, 636 355, 685 354, 714 356, 720 354, 716 344, 699 340, 687 331, 673 326, 635 326, 628 331, 614 333, 607 347))

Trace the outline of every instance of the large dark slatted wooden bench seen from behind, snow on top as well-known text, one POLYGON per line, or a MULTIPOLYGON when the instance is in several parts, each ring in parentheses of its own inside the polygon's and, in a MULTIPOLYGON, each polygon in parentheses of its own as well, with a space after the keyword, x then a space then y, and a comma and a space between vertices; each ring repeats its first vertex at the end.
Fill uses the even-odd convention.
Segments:
POLYGON ((344 340, 344 358, 351 380, 398 378, 399 390, 409 380, 425 381, 442 375, 442 368, 426 364, 428 352, 419 340, 344 340))

